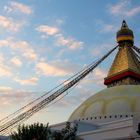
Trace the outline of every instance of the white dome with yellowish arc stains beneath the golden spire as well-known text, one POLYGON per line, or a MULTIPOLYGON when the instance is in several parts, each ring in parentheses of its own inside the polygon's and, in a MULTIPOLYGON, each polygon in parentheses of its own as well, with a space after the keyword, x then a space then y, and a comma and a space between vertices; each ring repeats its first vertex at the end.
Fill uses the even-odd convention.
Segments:
POLYGON ((104 89, 84 101, 69 121, 108 122, 133 117, 140 112, 140 85, 104 89))

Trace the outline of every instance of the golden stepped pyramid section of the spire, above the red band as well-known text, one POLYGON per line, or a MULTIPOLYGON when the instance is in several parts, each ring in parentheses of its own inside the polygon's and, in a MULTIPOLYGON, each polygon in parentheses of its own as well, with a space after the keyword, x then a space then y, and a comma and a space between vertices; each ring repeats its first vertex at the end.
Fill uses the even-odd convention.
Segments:
POLYGON ((128 44, 120 47, 107 78, 128 70, 140 74, 140 62, 134 53, 132 47, 128 44))

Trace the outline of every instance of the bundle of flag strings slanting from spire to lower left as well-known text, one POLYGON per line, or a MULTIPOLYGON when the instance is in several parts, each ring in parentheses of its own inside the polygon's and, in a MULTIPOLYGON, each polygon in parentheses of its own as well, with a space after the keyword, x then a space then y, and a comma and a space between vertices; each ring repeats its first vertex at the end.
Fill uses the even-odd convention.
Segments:
MULTIPOLYGON (((99 59, 96 62, 91 63, 90 65, 88 65, 86 68, 84 68, 84 70, 78 72, 77 74, 75 74, 74 76, 72 76, 69 79, 72 79, 71 81, 68 81, 68 83, 65 84, 65 81, 58 85, 57 87, 53 88, 52 90, 50 90, 48 93, 52 93, 50 96, 46 97, 45 99, 42 99, 45 95, 42 95, 41 97, 39 97, 38 99, 42 99, 39 103, 35 104, 33 107, 31 107, 30 109, 28 109, 28 111, 25 111, 21 114, 19 114, 18 116, 16 116, 15 118, 11 119, 10 121, 5 122, 3 125, 0 126, 0 132, 1 133, 5 133, 8 131, 8 129, 13 128, 15 126, 17 126, 17 124, 21 124, 22 122, 26 121, 27 119, 29 119, 32 115, 34 115, 36 112, 38 112, 39 110, 45 108, 48 104, 50 104, 52 101, 54 101, 55 99, 57 99, 60 95, 62 95, 63 93, 65 93, 65 91, 67 91, 68 89, 70 89, 71 87, 73 87, 74 85, 76 85, 78 82, 80 82, 84 77, 86 77, 90 72, 92 72, 102 61, 104 61, 118 46, 114 47, 112 50, 110 50, 106 55, 104 55, 101 59, 99 59), (62 87, 60 87, 62 86, 62 87), (60 87, 60 88, 58 88, 60 87), (58 89, 57 89, 58 88, 58 89), (53 92, 52 92, 53 91, 53 92)), ((47 93, 47 94, 48 94, 47 93)), ((36 100, 38 100, 36 99, 36 100)), ((36 101, 35 100, 35 101, 36 101)), ((32 102, 31 102, 32 103, 32 102)), ((31 104, 29 103, 29 104, 31 104)), ((28 104, 28 105, 29 105, 28 104)), ((28 106, 26 105, 26 106, 28 106)), ((23 107, 24 108, 24 107, 23 107)), ((22 109, 19 109, 22 110, 22 109)), ((18 112, 18 111, 16 111, 18 112)), ((20 112, 20 111, 19 111, 20 112)), ((13 113, 14 114, 14 113, 13 113)))

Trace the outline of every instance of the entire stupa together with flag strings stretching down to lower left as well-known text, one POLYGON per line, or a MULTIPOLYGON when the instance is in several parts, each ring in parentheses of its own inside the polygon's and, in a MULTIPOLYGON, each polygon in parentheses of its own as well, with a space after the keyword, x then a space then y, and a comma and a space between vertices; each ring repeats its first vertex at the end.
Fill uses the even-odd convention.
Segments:
MULTIPOLYGON (((134 46, 133 31, 125 21, 116 35, 117 46, 64 83, 25 105, 0 121, 0 134, 9 134, 17 125, 45 108, 68 89, 85 78, 115 49, 116 57, 109 69, 104 90, 85 100, 69 117, 78 124, 83 140, 125 140, 140 136, 140 49, 134 46), (49 93, 49 95, 48 95, 49 93)), ((60 130, 66 122, 52 125, 60 130)))

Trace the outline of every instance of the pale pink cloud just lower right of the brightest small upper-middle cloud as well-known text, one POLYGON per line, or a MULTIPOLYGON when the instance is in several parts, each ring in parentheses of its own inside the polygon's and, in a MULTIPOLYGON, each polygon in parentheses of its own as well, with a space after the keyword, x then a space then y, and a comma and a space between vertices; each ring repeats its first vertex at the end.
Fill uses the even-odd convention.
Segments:
POLYGON ((62 34, 56 36, 56 45, 67 46, 70 50, 82 49, 83 44, 83 42, 77 41, 74 38, 65 38, 62 34))

